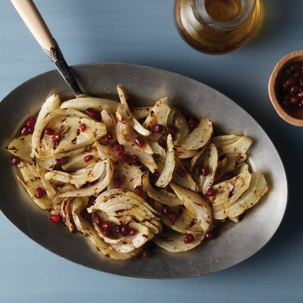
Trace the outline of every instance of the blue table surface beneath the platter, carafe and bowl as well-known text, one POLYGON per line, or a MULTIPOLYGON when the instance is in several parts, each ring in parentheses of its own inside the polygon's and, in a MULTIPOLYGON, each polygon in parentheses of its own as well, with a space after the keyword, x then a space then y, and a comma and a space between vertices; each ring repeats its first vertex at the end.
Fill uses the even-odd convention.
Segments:
MULTIPOLYGON (((201 54, 181 39, 173 0, 36 0, 36 5, 70 65, 147 65, 204 82, 233 99, 276 145, 289 200, 280 228, 257 254, 230 269, 180 280, 126 278, 84 268, 39 246, 0 214, 0 301, 303 302, 302 129, 278 117, 267 88, 279 59, 303 48, 302 1, 262 1, 257 34, 223 56, 201 54)), ((10 1, 1 1, 0 41, 0 99, 54 69, 10 1)))

